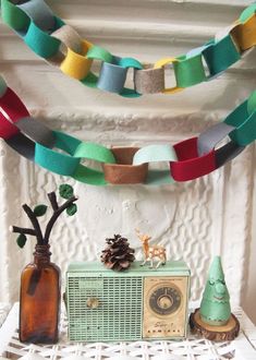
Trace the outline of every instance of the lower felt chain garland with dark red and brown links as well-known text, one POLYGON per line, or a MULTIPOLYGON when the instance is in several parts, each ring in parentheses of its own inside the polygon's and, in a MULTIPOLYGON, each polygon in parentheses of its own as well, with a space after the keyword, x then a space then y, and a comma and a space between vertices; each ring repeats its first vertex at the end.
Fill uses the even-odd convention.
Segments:
POLYGON ((14 151, 52 172, 95 185, 161 184, 193 180, 233 159, 256 139, 256 92, 222 123, 209 128, 198 137, 174 146, 148 145, 139 149, 109 149, 50 130, 31 117, 25 105, 2 77, 0 107, 0 137, 14 151), (217 148, 227 135, 230 141, 217 148), (123 163, 120 164, 120 159, 123 163), (102 163, 103 171, 88 168, 81 164, 82 160, 102 163), (156 161, 169 163, 170 169, 148 170, 148 164, 156 161))

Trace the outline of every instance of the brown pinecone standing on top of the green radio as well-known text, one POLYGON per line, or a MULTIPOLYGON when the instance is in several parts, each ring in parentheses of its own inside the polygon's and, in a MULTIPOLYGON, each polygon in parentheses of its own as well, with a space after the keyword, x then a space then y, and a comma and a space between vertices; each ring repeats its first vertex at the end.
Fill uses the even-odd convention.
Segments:
POLYGON ((129 268, 135 256, 134 249, 130 248, 127 239, 122 238, 121 235, 114 235, 113 239, 106 239, 106 242, 108 245, 100 256, 105 266, 118 272, 129 268))

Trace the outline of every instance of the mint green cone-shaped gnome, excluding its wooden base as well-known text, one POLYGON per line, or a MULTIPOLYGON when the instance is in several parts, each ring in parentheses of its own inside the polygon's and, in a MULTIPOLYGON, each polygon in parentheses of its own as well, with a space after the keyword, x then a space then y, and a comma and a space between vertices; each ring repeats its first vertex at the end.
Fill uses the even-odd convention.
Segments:
POLYGON ((230 319, 230 296, 220 256, 211 263, 199 312, 202 320, 209 325, 224 325, 230 319))

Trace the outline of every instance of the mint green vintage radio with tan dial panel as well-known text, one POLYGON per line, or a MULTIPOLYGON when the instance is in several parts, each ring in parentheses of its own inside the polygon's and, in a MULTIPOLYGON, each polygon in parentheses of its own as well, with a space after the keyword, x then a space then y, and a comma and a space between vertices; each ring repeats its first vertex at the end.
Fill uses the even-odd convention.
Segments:
POLYGON ((72 263, 66 273, 69 338, 75 341, 178 339, 186 336, 190 269, 167 262, 129 271, 72 263))

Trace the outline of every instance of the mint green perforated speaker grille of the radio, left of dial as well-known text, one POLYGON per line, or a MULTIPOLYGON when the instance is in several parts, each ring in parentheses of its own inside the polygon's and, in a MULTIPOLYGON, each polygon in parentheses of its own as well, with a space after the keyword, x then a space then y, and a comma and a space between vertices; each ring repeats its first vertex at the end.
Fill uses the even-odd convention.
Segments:
POLYGON ((68 277, 69 337, 75 341, 142 337, 142 277, 68 277), (98 307, 87 307, 97 299, 98 307))

